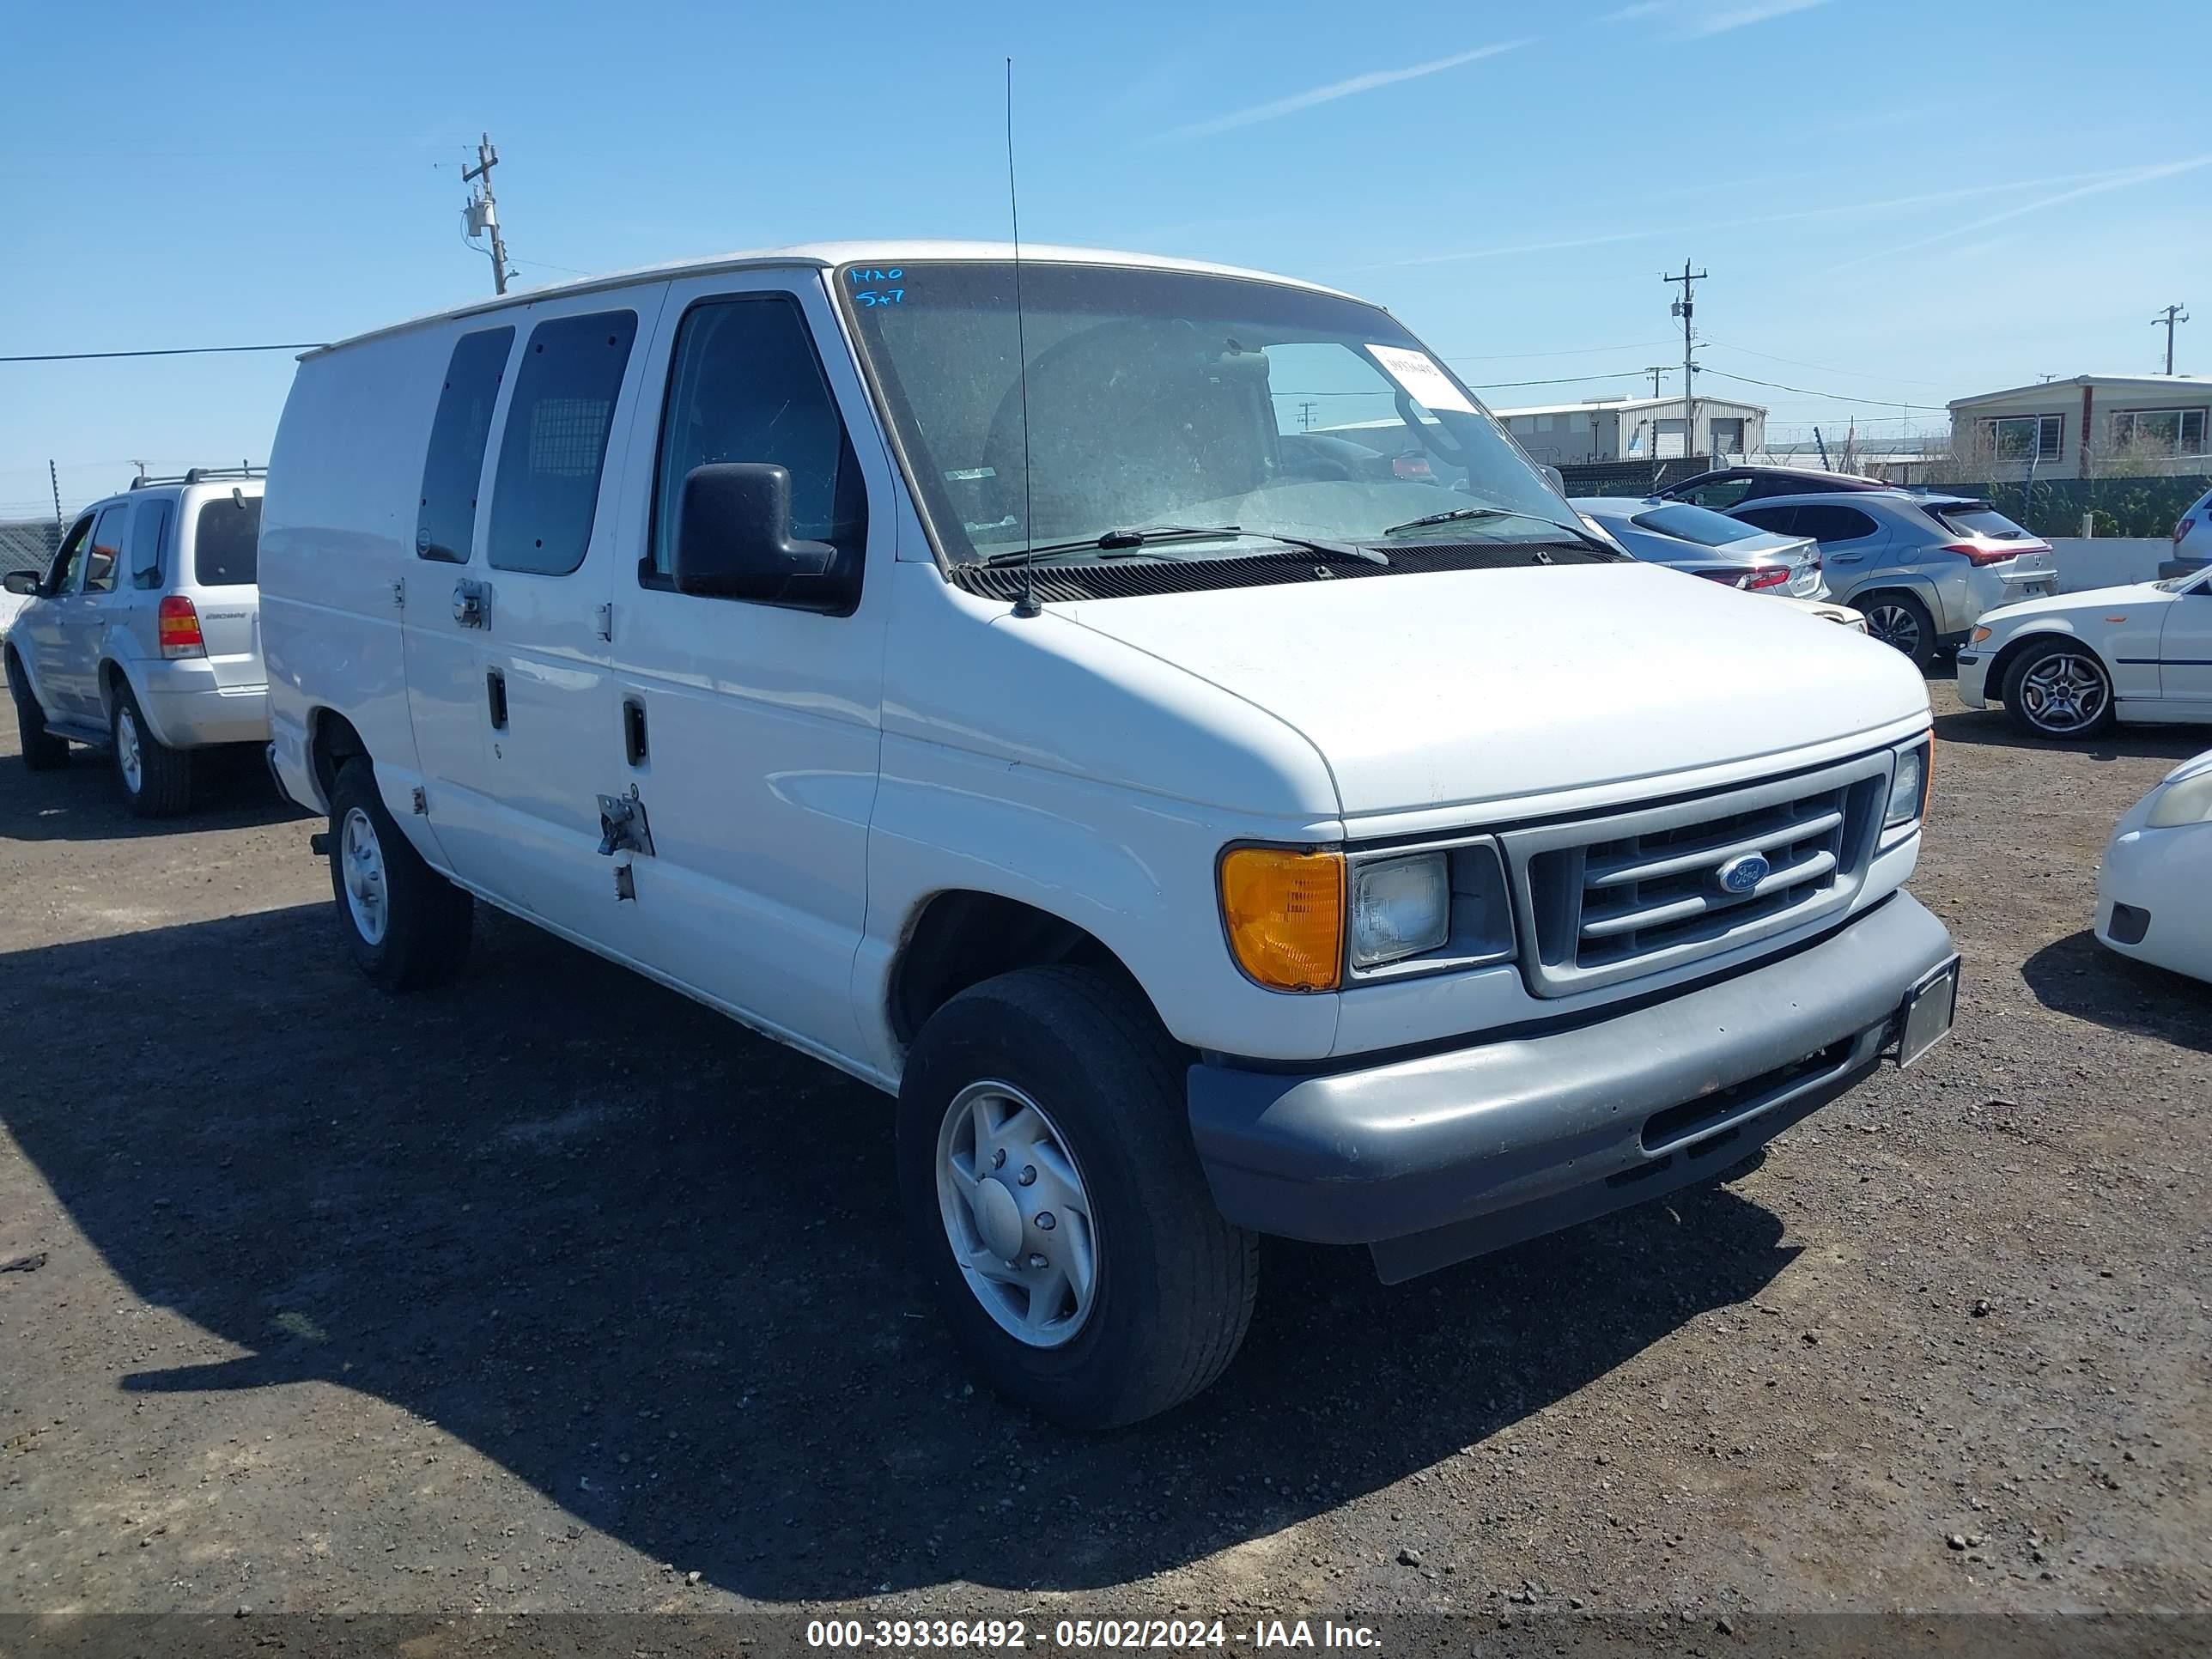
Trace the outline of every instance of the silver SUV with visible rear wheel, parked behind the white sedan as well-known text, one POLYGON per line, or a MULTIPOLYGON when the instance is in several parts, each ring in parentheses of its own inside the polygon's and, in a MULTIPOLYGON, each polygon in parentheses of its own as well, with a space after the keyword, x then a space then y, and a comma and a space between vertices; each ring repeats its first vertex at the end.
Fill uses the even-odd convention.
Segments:
POLYGON ((2051 544, 1966 495, 1816 491, 1759 495, 1725 511, 1818 542, 1829 593, 1920 668, 1938 646, 1964 641, 1984 611, 2059 588, 2051 544))

